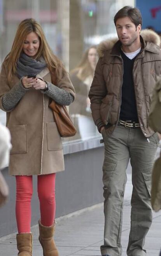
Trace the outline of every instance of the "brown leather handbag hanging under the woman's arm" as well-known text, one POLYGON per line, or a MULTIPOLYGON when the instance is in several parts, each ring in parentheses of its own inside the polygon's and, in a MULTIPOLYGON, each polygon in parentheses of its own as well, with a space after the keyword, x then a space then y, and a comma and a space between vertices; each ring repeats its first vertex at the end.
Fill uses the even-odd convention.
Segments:
POLYGON ((55 101, 51 101, 49 108, 53 110, 54 120, 56 122, 61 137, 72 137, 76 134, 72 120, 65 106, 59 105, 55 101))

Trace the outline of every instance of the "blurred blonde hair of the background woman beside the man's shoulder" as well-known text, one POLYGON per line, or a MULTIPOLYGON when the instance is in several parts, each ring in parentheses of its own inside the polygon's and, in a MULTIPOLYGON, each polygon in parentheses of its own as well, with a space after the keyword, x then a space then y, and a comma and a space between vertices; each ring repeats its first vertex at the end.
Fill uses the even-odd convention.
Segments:
POLYGON ((89 47, 88 49, 86 49, 86 51, 84 52, 79 64, 77 65, 77 67, 75 67, 75 69, 73 69, 71 71, 71 74, 75 71, 78 71, 77 77, 80 80, 84 80, 86 79, 88 76, 94 76, 94 70, 91 67, 89 60, 88 60, 88 53, 90 49, 97 49, 97 47, 95 45, 89 47))

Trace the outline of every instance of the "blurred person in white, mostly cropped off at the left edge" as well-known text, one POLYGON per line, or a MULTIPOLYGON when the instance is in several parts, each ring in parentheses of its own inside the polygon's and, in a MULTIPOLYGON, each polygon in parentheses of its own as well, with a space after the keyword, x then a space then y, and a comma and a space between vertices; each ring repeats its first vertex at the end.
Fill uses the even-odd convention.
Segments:
MULTIPOLYGON (((0 124, 0 170, 9 165, 9 152, 10 152, 10 133, 9 130, 0 124)), ((7 200, 9 194, 8 186, 0 172, 0 206, 7 200)))

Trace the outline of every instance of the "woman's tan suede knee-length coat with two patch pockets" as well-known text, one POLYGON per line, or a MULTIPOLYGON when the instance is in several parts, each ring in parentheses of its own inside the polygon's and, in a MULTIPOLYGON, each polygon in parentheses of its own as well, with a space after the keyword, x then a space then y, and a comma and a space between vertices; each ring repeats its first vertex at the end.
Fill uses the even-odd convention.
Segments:
MULTIPOLYGON (((74 88, 66 72, 60 71, 57 86, 70 92, 74 88)), ((37 77, 51 82, 46 68, 37 77)), ((2 97, 16 84, 19 78, 13 76, 7 81, 7 65, 2 64, 0 73, 0 108, 2 97)), ((41 175, 64 170, 62 141, 54 122, 53 113, 48 107, 49 97, 40 90, 30 89, 17 106, 7 113, 7 127, 11 133, 10 175, 41 175)))

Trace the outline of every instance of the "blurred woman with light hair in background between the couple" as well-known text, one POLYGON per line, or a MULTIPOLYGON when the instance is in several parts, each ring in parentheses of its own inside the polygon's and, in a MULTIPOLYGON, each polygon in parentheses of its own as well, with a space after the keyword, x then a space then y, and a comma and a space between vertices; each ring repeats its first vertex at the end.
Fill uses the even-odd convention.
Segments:
POLYGON ((85 51, 80 64, 70 73, 76 92, 76 99, 70 105, 69 112, 82 139, 95 136, 97 133, 91 117, 88 97, 97 60, 96 46, 91 46, 85 51))

